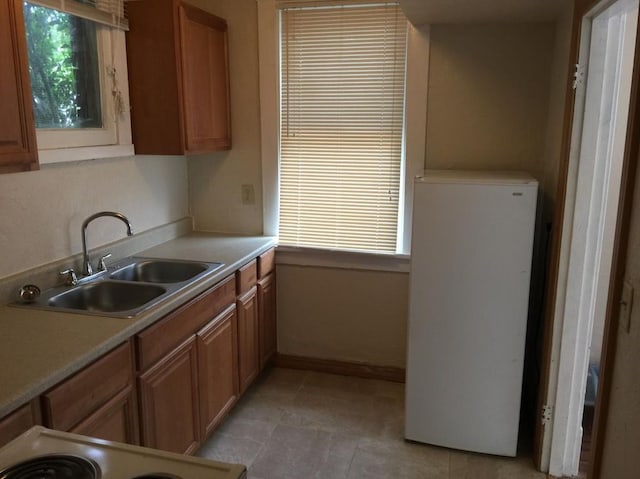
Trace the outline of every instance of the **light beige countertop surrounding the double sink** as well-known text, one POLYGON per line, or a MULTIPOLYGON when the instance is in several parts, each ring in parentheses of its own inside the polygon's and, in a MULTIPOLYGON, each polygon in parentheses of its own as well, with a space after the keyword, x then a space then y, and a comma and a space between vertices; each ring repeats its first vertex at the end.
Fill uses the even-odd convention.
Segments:
POLYGON ((224 266, 134 318, 0 307, 0 418, 273 246, 272 237, 194 232, 136 253, 149 258, 217 261, 224 266))

